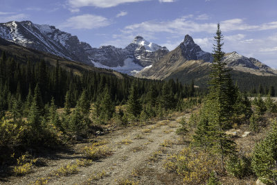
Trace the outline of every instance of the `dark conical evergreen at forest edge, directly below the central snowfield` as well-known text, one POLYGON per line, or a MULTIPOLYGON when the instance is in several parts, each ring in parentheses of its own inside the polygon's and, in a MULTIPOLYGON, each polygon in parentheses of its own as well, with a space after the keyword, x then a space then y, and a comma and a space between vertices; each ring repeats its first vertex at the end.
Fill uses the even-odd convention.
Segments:
POLYGON ((129 90, 129 96, 127 100, 127 112, 134 116, 139 116, 141 114, 141 102, 139 100, 139 89, 132 83, 132 86, 129 90))

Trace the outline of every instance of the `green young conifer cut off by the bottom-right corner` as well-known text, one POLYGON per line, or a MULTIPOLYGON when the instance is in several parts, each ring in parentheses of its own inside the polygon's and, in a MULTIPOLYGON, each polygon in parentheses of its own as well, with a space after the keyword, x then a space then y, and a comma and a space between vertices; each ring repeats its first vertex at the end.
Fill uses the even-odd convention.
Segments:
POLYGON ((251 166, 258 178, 266 184, 277 184, 277 121, 272 123, 266 138, 256 144, 251 166))

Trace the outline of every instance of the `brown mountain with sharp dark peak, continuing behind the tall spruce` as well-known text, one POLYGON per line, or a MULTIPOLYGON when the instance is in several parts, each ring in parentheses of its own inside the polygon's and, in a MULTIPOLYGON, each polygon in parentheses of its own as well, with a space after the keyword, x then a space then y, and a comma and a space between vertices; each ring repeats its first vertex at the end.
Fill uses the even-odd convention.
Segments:
MULTIPOLYGON (((211 53, 202 51, 193 38, 186 35, 184 42, 170 51, 161 60, 154 62, 151 68, 145 69, 136 76, 150 79, 178 78, 181 81, 196 78, 207 79, 213 57, 211 53), (206 76, 206 77, 205 77, 206 76)), ((246 58, 236 52, 226 53, 223 59, 227 67, 234 71, 251 73, 260 76, 276 76, 277 71, 271 69, 254 58, 246 58)))

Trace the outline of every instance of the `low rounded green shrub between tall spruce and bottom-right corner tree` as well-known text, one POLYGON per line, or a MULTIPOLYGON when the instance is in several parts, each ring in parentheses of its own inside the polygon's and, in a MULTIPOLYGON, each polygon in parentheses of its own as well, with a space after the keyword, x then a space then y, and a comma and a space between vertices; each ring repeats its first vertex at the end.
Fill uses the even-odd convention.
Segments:
POLYGON ((247 157, 232 156, 226 161, 226 170, 233 177, 242 179, 251 172, 251 161, 247 157))

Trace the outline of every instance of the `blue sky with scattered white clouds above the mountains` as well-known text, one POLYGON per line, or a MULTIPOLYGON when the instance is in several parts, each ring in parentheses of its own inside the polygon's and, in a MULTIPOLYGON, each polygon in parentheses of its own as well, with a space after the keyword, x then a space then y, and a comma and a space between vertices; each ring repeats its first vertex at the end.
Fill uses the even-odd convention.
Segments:
POLYGON ((216 24, 224 51, 277 68, 276 0, 0 0, 0 22, 50 24, 93 47, 125 47, 136 35, 175 49, 189 34, 212 51, 216 24))

